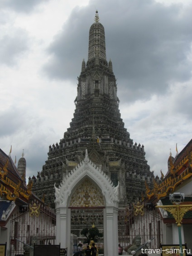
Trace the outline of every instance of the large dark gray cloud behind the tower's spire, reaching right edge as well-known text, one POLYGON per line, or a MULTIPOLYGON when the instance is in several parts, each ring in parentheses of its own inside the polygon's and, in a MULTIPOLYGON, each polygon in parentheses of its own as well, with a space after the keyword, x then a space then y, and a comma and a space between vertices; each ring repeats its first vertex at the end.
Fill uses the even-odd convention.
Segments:
POLYGON ((100 8, 107 59, 113 62, 120 100, 133 101, 164 93, 168 83, 191 78, 192 63, 188 55, 192 43, 192 10, 181 5, 164 6, 152 0, 142 3, 122 0, 115 5, 109 0, 92 0, 86 7, 75 8, 48 48, 51 61, 44 70, 49 77, 74 79, 81 72, 82 58, 88 53, 88 32, 94 22, 95 6, 100 8))

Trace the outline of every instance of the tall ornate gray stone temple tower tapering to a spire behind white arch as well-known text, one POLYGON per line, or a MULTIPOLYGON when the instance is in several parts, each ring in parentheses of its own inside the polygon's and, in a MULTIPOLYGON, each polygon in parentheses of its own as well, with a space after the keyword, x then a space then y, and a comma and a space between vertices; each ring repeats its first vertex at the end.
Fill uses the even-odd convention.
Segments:
POLYGON ((84 159, 89 158, 106 173, 113 184, 120 183, 120 207, 138 200, 152 182, 153 173, 145 160, 144 146, 133 143, 120 116, 117 85, 112 62, 106 60, 105 31, 96 11, 89 31, 88 60, 82 61, 78 77, 75 113, 59 144, 50 145, 48 160, 37 178, 33 191, 52 208, 54 183, 62 179, 84 159))

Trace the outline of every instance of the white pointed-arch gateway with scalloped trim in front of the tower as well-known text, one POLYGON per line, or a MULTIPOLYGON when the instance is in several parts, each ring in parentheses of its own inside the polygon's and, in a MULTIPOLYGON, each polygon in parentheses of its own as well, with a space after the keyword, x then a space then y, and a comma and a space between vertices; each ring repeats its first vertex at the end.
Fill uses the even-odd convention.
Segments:
MULTIPOLYGON (((98 198, 92 197, 92 202, 84 204, 84 206, 92 207, 103 206, 104 219, 104 254, 107 256, 118 255, 118 190, 119 184, 114 187, 110 178, 104 174, 101 169, 96 167, 88 157, 86 150, 85 159, 73 169, 71 174, 62 181, 59 188, 55 187, 55 205, 57 215, 57 231, 56 242, 61 243, 62 248, 68 248, 67 256, 70 256, 70 234, 71 234, 71 205, 74 202, 77 188, 80 184, 85 184, 85 181, 93 184, 97 191, 98 198), (103 205, 104 204, 104 205, 103 205)), ((89 188, 87 187, 87 194, 89 188)), ((91 191, 90 191, 91 193, 91 191)), ((86 195, 84 197, 86 200, 86 195)), ((77 203, 77 202, 76 202, 77 203)), ((82 204, 79 201, 79 206, 82 204)), ((91 224, 91 223, 90 223, 91 224)))

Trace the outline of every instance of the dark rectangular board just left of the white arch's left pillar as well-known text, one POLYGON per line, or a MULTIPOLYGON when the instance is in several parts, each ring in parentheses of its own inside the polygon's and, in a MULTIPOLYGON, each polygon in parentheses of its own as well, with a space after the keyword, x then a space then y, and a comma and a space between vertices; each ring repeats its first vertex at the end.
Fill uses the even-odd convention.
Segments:
POLYGON ((34 256, 60 256, 60 245, 34 244, 34 256))

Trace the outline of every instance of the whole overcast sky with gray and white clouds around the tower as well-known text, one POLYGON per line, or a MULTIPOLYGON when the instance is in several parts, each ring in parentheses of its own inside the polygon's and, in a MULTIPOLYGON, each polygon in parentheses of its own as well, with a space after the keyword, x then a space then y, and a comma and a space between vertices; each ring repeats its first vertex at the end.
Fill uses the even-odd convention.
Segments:
POLYGON ((0 148, 17 162, 24 149, 27 178, 69 127, 96 9, 121 117, 151 170, 165 174, 192 138, 191 0, 1 0, 0 148))

